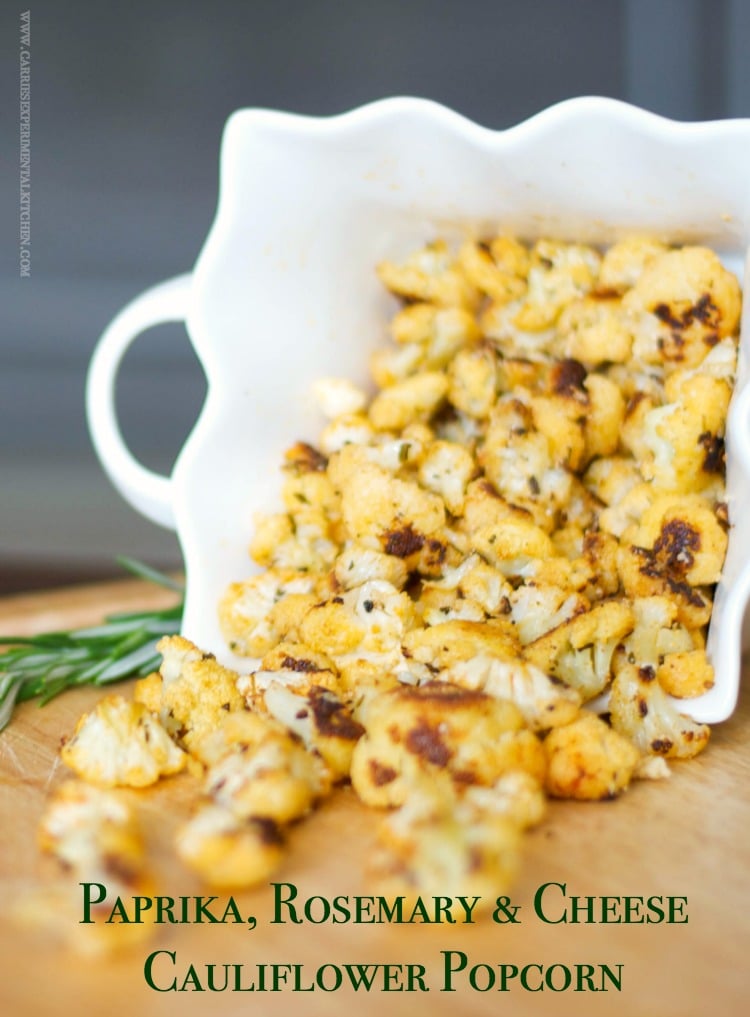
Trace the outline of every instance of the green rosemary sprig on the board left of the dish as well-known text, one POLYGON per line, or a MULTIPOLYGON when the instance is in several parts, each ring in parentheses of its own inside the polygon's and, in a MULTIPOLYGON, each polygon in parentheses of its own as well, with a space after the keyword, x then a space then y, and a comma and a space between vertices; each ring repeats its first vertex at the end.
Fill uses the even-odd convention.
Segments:
POLYGON ((149 674, 158 667, 156 645, 162 636, 179 632, 183 589, 169 576, 132 558, 118 563, 136 576, 180 594, 179 602, 161 610, 108 615, 102 624, 39 636, 0 636, 0 731, 16 704, 39 699, 40 705, 76 685, 106 685, 149 674))

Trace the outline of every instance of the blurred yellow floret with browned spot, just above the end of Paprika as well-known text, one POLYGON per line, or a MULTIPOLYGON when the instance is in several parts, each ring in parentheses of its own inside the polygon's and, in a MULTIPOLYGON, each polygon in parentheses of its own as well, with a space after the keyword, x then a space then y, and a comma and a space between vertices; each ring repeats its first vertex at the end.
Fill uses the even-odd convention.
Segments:
POLYGON ((238 819, 228 809, 201 805, 180 828, 177 854, 210 886, 253 887, 281 864, 284 841, 273 820, 238 819))

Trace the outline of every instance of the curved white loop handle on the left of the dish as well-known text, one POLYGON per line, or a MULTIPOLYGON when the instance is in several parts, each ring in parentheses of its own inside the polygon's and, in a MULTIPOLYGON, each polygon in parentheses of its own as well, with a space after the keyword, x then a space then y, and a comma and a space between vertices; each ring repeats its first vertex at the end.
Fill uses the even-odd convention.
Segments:
POLYGON ((175 529, 172 480, 145 467, 125 444, 115 409, 115 384, 120 362, 140 333, 185 320, 191 280, 190 274, 176 276, 127 304, 99 340, 86 377, 89 430, 102 466, 134 508, 171 530, 175 529))

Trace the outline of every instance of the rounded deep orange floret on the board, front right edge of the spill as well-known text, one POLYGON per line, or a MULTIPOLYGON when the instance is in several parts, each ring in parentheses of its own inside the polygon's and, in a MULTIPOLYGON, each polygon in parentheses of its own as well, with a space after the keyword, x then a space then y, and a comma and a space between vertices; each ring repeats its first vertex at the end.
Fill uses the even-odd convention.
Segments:
POLYGON ((630 783, 638 750, 599 717, 581 713, 544 738, 544 786, 556 798, 613 798, 630 783))

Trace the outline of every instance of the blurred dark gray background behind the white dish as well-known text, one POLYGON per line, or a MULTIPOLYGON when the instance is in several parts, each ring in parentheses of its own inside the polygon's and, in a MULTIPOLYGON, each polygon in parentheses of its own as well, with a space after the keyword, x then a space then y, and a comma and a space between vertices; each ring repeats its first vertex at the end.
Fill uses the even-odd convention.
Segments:
MULTIPOLYGON (((750 115, 747 0, 154 0, 0 3, 0 592, 180 562, 92 452, 97 338, 188 271, 221 131, 243 106, 332 114, 411 94, 506 127, 584 94, 681 119, 750 115), (32 10, 32 278, 18 278, 19 11, 32 10)), ((133 451, 168 472, 204 380, 184 331, 128 354, 133 451)))

